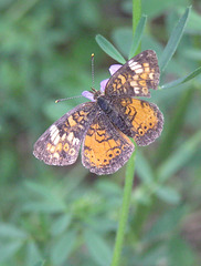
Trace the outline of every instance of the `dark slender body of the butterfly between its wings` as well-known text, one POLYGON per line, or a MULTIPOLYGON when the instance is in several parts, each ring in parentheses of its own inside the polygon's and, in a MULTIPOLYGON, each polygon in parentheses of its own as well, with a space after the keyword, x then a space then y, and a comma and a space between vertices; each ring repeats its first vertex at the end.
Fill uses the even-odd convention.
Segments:
POLYGON ((109 117, 110 122, 128 136, 131 134, 126 121, 120 116, 119 112, 114 108, 113 102, 105 95, 97 98, 97 104, 102 111, 109 117))

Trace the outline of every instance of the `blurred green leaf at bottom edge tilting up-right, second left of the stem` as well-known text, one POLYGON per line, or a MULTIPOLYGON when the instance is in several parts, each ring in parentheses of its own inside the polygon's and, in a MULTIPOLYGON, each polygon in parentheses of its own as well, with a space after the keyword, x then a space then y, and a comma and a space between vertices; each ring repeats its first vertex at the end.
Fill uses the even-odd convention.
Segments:
POLYGON ((70 256, 76 239, 76 232, 71 231, 54 242, 51 249, 51 260, 53 265, 62 265, 70 256))

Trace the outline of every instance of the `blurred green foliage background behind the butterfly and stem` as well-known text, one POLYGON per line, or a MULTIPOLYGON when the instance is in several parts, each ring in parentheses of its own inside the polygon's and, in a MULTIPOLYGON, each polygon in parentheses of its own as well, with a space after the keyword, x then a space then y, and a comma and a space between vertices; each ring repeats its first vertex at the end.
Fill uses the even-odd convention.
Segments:
MULTIPOLYGON (((160 85, 201 62, 201 2, 144 0, 141 50, 158 58, 186 8, 190 18, 160 85)), ((0 266, 109 265, 125 167, 96 176, 81 160, 47 166, 33 143, 95 88, 115 63, 95 42, 100 33, 127 57, 131 0, 0 1, 0 266)), ((201 76, 152 92, 165 115, 162 135, 139 147, 124 266, 201 265, 201 76)))

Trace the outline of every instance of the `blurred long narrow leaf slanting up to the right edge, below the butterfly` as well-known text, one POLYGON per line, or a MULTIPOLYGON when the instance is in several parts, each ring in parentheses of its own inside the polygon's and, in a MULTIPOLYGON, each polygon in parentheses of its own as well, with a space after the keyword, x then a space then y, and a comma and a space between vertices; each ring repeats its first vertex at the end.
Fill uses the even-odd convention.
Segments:
POLYGON ((200 144, 201 132, 195 133, 190 140, 182 143, 182 145, 158 168, 159 180, 162 182, 166 181, 184 166, 200 147, 200 144))

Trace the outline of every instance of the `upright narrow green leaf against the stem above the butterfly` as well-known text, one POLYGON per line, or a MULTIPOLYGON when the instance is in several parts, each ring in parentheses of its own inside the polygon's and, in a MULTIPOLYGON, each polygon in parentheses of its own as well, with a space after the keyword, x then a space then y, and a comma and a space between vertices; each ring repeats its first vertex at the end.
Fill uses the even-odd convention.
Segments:
POLYGON ((128 59, 133 58, 136 54, 136 51, 139 47, 139 43, 141 41, 141 37, 145 30, 145 25, 147 22, 147 16, 142 16, 139 23, 137 24, 134 38, 133 38, 133 42, 131 42, 131 48, 129 51, 129 55, 128 59))

